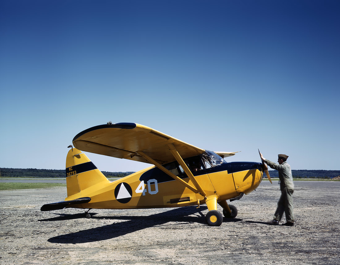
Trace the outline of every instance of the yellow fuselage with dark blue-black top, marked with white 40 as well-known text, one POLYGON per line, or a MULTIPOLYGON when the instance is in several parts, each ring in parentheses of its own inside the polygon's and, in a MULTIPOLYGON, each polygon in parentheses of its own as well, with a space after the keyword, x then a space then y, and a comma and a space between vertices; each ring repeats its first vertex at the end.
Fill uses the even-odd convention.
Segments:
MULTIPOLYGON (((212 153, 212 152, 211 152, 212 153)), ((83 155, 83 154, 82 154, 83 155)), ((216 154, 215 154, 216 155, 216 154)), ((186 159, 190 162, 199 156, 186 159)), ((223 160, 223 159, 222 159, 223 160)), ((209 168, 202 163, 201 169, 192 173, 195 179, 204 187, 205 196, 194 193, 184 185, 159 170, 157 167, 148 167, 145 170, 133 173, 129 176, 109 182, 101 181, 86 188, 86 177, 82 181, 81 174, 90 174, 96 168, 84 166, 85 162, 74 165, 73 171, 67 177, 69 182, 77 178, 79 192, 68 196, 65 200, 73 200, 80 197, 90 197, 91 201, 86 204, 72 205, 73 208, 92 209, 134 209, 134 208, 163 208, 199 205, 206 203, 206 200, 216 198, 217 201, 233 199, 240 194, 248 194, 256 189, 262 180, 261 163, 256 162, 223 162, 221 164, 209 164, 209 168), (87 168, 90 171, 80 172, 77 168, 87 168), (72 173, 73 172, 73 173, 72 173)), ((93 167, 92 163, 92 167, 93 167)), ((191 180, 186 176, 178 163, 172 162, 164 165, 175 173, 176 176, 192 185, 191 180)), ((97 169, 98 170, 98 169, 97 169)), ((92 179, 92 178, 91 178, 92 179)))

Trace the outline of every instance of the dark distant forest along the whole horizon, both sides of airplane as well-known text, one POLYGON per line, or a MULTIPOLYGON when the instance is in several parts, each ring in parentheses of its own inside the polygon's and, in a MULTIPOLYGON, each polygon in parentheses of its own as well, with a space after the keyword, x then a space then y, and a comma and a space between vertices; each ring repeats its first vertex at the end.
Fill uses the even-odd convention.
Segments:
MULTIPOLYGON (((134 172, 107 172, 102 171, 105 177, 121 178, 134 172)), ((271 178, 278 178, 276 170, 270 170, 271 178)), ((334 178, 340 176, 340 170, 292 170, 293 178, 334 178)), ((27 178, 65 178, 66 171, 58 169, 8 169, 0 168, 0 177, 27 177, 27 178)))

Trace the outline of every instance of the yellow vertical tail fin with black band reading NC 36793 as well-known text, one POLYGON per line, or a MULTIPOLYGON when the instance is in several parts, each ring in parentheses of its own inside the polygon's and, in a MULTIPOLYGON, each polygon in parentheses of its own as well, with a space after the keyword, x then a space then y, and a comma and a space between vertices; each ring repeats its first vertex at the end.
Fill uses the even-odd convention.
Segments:
POLYGON ((77 148, 72 148, 66 157, 67 197, 79 193, 98 183, 111 183, 99 169, 77 148))

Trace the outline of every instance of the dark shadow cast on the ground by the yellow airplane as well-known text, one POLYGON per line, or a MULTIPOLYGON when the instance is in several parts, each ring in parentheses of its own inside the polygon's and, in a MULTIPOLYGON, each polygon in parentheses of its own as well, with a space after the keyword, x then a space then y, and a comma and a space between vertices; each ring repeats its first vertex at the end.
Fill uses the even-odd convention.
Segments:
MULTIPOLYGON (((206 209, 207 209, 206 206, 201 206, 198 209, 196 208, 196 206, 188 206, 148 216, 100 216, 100 217, 92 216, 91 218, 97 219, 113 219, 113 220, 116 219, 126 221, 81 230, 69 234, 58 235, 48 239, 48 242, 59 244, 78 244, 96 242, 107 239, 113 239, 115 237, 119 237, 125 234, 129 234, 153 226, 165 227, 168 226, 166 224, 168 222, 177 222, 177 225, 185 225, 188 223, 200 223, 202 225, 206 225, 205 218, 202 218, 205 216, 202 213, 202 211, 206 209), (188 216, 192 214, 195 214, 195 216, 188 216)), ((61 221, 84 218, 84 213, 58 214, 58 215, 60 216, 48 219, 41 219, 39 221, 61 221)), ((91 215, 95 214, 91 213, 91 215)), ((226 222, 228 222, 228 219, 230 218, 225 218, 226 222)))

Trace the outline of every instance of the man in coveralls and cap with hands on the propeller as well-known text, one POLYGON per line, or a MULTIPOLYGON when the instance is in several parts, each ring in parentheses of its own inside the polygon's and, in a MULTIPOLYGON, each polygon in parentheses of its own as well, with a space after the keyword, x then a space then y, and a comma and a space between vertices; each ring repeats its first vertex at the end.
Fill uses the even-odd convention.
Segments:
POLYGON ((282 225, 293 226, 294 211, 292 194, 294 192, 294 183, 290 165, 286 162, 288 156, 283 154, 278 155, 277 159, 278 164, 275 164, 274 162, 267 160, 262 156, 261 153, 260 156, 261 159, 266 164, 269 165, 269 167, 278 171, 278 177, 280 179, 281 197, 277 202, 277 208, 274 214, 274 219, 271 222, 269 222, 269 224, 278 225, 279 221, 282 218, 283 213, 285 213, 287 222, 282 225))

